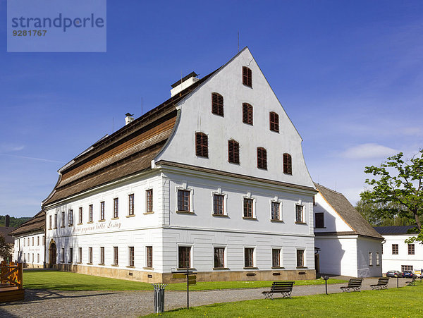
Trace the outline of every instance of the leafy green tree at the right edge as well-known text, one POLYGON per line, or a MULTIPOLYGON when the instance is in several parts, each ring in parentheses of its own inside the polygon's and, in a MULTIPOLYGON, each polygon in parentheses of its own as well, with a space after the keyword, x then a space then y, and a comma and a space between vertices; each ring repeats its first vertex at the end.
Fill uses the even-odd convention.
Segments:
POLYGON ((371 188, 360 193, 362 202, 372 204, 376 216, 410 220, 420 233, 407 241, 423 243, 423 149, 409 160, 400 152, 379 167, 367 166, 364 172, 377 178, 366 179, 371 188))

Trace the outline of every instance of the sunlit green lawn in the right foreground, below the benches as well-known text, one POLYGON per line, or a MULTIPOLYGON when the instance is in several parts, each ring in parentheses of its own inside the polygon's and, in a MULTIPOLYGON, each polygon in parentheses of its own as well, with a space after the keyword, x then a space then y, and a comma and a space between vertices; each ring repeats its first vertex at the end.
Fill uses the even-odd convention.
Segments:
MULTIPOLYGON (((295 287, 294 287, 295 288, 295 287)), ((423 285, 312 295, 275 300, 246 300, 172 310, 164 317, 423 317, 423 285)), ((157 317, 150 314, 147 317, 157 317)))

